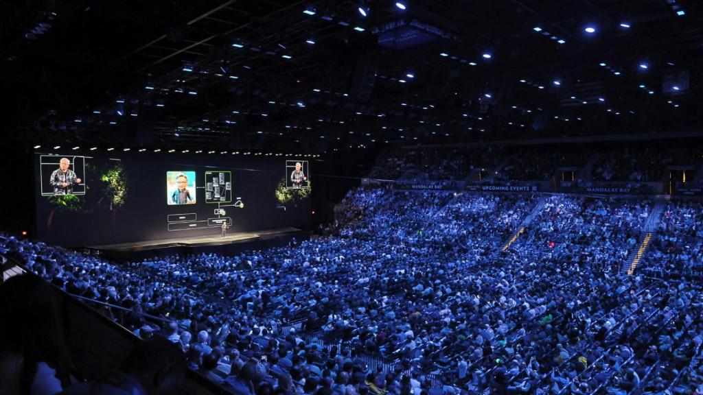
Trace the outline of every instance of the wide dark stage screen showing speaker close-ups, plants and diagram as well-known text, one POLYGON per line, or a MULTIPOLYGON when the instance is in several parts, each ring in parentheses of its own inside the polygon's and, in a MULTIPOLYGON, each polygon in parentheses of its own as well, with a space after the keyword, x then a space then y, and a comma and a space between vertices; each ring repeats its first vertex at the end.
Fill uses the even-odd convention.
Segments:
POLYGON ((307 160, 90 154, 35 153, 41 240, 89 247, 310 223, 307 160))

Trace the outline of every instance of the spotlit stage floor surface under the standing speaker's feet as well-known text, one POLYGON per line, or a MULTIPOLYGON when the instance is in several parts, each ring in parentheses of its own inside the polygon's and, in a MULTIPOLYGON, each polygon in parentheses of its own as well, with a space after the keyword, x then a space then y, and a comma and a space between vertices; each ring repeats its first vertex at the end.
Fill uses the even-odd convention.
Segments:
POLYGON ((250 242, 254 240, 265 240, 274 238, 285 233, 299 232, 298 228, 278 228, 269 229, 258 232, 238 232, 228 233, 226 237, 220 238, 220 235, 197 236, 193 238, 171 238, 162 240, 149 240, 142 242, 123 242, 120 244, 106 245, 90 245, 86 248, 91 250, 115 251, 115 252, 131 252, 131 251, 147 251, 169 247, 202 247, 209 245, 228 245, 237 242, 250 242))

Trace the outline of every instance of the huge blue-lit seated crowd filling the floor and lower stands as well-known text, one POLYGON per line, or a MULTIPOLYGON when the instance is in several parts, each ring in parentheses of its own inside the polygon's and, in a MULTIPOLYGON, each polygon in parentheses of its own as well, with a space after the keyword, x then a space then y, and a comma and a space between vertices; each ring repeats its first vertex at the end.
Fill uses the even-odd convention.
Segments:
MULTIPOLYGON (((651 201, 357 188, 342 205, 329 235, 234 256, 114 264, 8 235, 0 253, 235 394, 703 391, 699 283, 621 271, 651 201)), ((700 262, 700 209, 662 214, 679 261, 700 262)))

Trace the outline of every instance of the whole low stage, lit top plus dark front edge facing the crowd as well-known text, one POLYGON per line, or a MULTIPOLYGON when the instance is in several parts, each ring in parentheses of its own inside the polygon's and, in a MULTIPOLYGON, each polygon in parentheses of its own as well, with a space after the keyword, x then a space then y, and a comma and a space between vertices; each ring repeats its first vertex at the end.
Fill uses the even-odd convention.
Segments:
POLYGON ((304 240, 307 232, 298 228, 268 229, 258 232, 228 233, 224 238, 217 235, 205 235, 192 238, 169 238, 140 242, 123 242, 120 244, 91 245, 88 250, 105 254, 112 259, 131 260, 159 254, 193 253, 193 252, 236 252, 247 248, 273 247, 285 244, 292 238, 304 240))

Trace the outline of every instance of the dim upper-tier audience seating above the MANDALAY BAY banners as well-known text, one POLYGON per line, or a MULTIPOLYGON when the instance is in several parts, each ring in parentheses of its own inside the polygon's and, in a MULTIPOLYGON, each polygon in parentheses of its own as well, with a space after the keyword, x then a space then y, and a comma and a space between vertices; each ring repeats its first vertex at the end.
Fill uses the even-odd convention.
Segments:
POLYGON ((573 171, 581 183, 669 181, 669 171, 701 183, 703 146, 671 142, 560 145, 430 145, 393 148, 380 155, 370 177, 467 180, 471 183, 555 181, 573 171))

